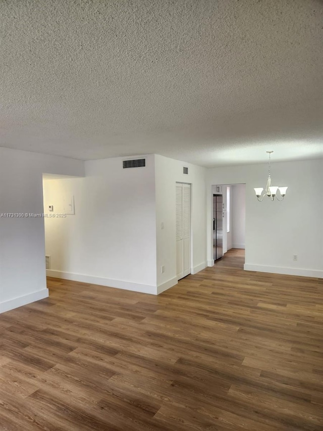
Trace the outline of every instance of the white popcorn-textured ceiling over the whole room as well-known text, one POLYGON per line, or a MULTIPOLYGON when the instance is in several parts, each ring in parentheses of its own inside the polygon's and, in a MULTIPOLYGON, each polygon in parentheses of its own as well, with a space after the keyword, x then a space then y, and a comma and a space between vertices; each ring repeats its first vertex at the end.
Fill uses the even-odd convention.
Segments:
POLYGON ((2 147, 323 156, 319 0, 0 0, 0 14, 2 147))

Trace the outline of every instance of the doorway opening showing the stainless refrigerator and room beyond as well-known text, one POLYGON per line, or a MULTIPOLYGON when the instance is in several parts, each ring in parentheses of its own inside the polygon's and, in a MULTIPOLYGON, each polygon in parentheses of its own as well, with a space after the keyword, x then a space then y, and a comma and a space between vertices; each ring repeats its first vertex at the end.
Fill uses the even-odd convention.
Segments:
POLYGON ((245 184, 212 185, 213 259, 218 266, 233 260, 243 266, 245 257, 245 184))

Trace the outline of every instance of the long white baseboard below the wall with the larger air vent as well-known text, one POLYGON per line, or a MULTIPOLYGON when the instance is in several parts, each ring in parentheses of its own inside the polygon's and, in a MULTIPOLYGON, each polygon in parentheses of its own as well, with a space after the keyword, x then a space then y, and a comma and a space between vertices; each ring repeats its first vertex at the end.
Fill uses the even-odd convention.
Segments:
POLYGON ((156 295, 156 286, 149 284, 132 283, 130 281, 114 280, 111 278, 95 277, 93 275, 76 274, 73 272, 56 271, 52 269, 47 269, 46 275, 47 277, 64 278, 66 280, 81 281, 82 283, 99 284, 109 288, 156 295))

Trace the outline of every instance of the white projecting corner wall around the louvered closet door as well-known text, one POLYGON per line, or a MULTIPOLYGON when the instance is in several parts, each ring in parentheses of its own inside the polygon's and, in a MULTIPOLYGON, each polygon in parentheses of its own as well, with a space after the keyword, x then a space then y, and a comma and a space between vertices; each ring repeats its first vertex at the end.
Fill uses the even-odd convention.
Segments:
POLYGON ((122 158, 89 161, 85 178, 44 180, 45 208, 75 201, 75 215, 45 219, 48 275, 151 294, 176 284, 176 181, 192 183, 191 271, 206 266, 205 168, 146 159, 135 169, 123 169, 122 158))

